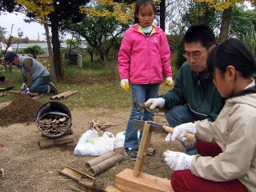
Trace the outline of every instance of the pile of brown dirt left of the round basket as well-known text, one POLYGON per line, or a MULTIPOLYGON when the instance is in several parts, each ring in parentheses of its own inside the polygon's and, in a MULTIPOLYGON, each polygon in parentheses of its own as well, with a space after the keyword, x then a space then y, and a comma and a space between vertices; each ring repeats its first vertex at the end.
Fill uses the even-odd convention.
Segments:
POLYGON ((27 95, 20 95, 0 110, 0 126, 9 126, 14 123, 32 122, 41 102, 34 101, 27 95))

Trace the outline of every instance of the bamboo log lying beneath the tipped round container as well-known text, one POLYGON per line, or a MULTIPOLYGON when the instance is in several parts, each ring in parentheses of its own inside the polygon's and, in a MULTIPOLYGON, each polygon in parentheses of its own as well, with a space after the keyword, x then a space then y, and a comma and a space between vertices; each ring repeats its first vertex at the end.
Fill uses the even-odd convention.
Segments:
POLYGON ((42 138, 38 141, 38 147, 41 150, 50 146, 61 146, 64 144, 74 144, 74 134, 64 135, 59 138, 42 138))

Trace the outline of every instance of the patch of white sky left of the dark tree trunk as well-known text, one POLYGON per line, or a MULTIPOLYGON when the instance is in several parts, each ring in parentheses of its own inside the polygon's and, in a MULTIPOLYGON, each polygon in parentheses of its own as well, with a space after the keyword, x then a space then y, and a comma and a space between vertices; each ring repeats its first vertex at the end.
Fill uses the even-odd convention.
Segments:
POLYGON ((30 40, 45 40, 46 36, 45 30, 42 25, 37 22, 30 22, 26 23, 23 19, 26 18, 25 14, 0 14, 0 26, 6 27, 8 31, 7 34, 10 34, 10 29, 12 24, 13 27, 13 36, 17 37, 18 35, 18 28, 23 31, 23 37, 28 37, 30 40))

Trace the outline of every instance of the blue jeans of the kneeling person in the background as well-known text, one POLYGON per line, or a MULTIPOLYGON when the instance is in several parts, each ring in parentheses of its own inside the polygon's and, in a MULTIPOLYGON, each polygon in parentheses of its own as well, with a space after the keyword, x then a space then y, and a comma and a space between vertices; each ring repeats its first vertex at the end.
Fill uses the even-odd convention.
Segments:
POLYGON ((50 75, 40 76, 34 80, 30 86, 30 91, 38 94, 46 94, 48 92, 49 86, 47 85, 50 82, 50 75))

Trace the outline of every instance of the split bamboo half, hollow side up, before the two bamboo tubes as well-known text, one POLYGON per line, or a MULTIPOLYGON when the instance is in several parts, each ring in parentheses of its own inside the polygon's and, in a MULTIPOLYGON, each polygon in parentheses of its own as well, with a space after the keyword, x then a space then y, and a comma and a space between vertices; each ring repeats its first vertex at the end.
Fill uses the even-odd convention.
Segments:
MULTIPOLYGON (((57 169, 58 170, 58 169, 57 169)), ((95 178, 88 174, 84 174, 70 166, 65 166, 63 170, 58 170, 60 174, 66 175, 68 178, 72 178, 74 181, 78 182, 82 186, 92 186, 94 185, 95 178)))

